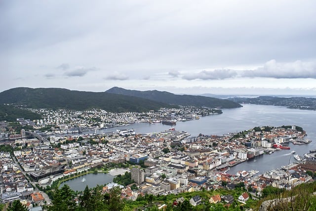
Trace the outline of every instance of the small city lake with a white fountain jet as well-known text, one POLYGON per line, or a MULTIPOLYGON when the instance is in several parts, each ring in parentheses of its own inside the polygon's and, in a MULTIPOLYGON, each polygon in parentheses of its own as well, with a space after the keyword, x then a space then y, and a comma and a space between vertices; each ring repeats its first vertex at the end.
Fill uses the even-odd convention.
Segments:
POLYGON ((68 180, 66 182, 61 183, 61 187, 65 184, 69 185, 69 187, 74 191, 83 191, 85 187, 88 185, 89 188, 96 187, 97 185, 104 185, 110 182, 113 182, 114 176, 108 173, 88 173, 83 176, 79 176, 75 179, 68 180), (84 178, 84 179, 83 179, 84 178))

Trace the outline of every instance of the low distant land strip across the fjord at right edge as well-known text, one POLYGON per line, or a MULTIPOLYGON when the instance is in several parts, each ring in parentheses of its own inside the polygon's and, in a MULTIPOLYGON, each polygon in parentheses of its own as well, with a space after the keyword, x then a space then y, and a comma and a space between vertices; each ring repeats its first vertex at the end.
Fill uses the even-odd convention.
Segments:
POLYGON ((237 103, 250 103, 259 105, 286 106, 293 109, 316 110, 316 98, 313 97, 271 97, 260 96, 256 98, 235 97, 230 100, 237 103))

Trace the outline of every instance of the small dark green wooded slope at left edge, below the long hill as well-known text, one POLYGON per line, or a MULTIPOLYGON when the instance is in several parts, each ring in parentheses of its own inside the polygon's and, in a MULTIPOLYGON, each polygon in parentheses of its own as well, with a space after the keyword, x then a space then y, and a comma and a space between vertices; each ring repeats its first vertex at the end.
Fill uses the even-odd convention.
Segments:
POLYGON ((25 109, 16 108, 12 105, 0 104, 0 121, 15 122, 17 118, 38 120, 41 116, 25 109))

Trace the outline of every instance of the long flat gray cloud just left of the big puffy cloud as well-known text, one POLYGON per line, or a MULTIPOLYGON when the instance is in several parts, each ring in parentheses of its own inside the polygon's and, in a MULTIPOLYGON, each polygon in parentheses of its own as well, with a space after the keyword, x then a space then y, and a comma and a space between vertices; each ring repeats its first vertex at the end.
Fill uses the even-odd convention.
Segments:
POLYGON ((237 72, 235 70, 223 69, 223 70, 213 70, 213 71, 200 71, 194 74, 184 75, 182 78, 186 80, 223 80, 228 78, 234 78, 237 76, 237 72))

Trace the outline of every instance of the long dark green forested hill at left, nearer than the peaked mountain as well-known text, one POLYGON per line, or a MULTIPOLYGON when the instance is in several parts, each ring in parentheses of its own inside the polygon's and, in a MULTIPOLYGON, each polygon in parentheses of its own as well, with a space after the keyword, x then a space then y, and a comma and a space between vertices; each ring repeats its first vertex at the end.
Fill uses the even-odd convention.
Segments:
POLYGON ((174 107, 148 99, 106 92, 73 91, 63 88, 12 88, 0 93, 0 104, 26 108, 86 110, 100 108, 109 112, 142 112, 174 107))

